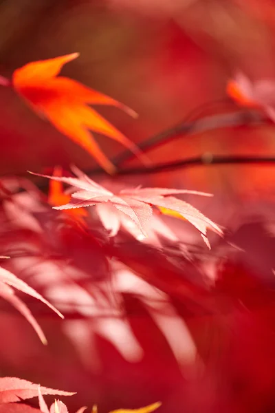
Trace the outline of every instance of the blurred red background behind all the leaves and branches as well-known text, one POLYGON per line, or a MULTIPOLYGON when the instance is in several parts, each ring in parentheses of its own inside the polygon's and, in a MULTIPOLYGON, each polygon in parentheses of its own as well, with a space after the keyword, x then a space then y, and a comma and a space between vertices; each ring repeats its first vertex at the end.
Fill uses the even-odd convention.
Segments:
MULTIPOLYGON (((135 109, 140 114, 137 120, 115 108, 102 107, 99 112, 131 140, 141 142, 184 120, 193 109, 225 99, 226 82, 236 69, 252 79, 274 78, 274 23, 275 6, 268 0, 1 1, 0 74, 10 77, 29 61, 80 52, 76 61, 64 67, 63 74, 135 109)), ((83 170, 96 167, 83 149, 36 116, 12 89, 1 87, 0 108, 2 176, 27 176, 27 170, 41 172, 54 165, 68 169, 72 163, 83 170)), ((209 107, 207 113, 220 109, 217 104, 217 110, 209 107)), ((98 141, 109 158, 122 151, 108 138, 100 136, 98 141)), ((154 162, 165 162, 205 153, 272 154, 274 126, 179 136, 173 144, 168 142, 148 154, 154 162)), ((137 160, 131 165, 137 165, 137 160)), ((123 179, 210 191, 214 193, 211 202, 198 201, 197 207, 215 222, 231 225, 232 232, 245 214, 266 213, 267 209, 270 214, 274 207, 273 166, 206 166, 123 179)), ((226 271, 221 277, 221 290, 225 288, 230 295, 228 288, 230 282, 233 284, 232 296, 236 301, 241 297, 248 308, 247 317, 234 308, 216 318, 188 318, 184 305, 175 302, 197 337, 199 352, 209 361, 208 375, 202 374, 201 380, 196 377, 192 381, 182 374, 162 332, 134 297, 126 300, 126 308, 129 306, 129 322, 144 349, 142 361, 125 361, 108 341, 96 337, 96 357, 102 368, 92 370, 83 366, 65 338, 62 321, 41 317, 39 321, 50 342, 44 348, 34 334, 29 334, 30 328, 21 325, 20 316, 3 313, 1 375, 76 391, 78 395, 68 405, 76 409, 98 403, 100 413, 123 405, 139 407, 158 399, 164 402, 164 411, 172 413, 274 411, 274 321, 270 320, 274 308, 264 315, 259 310, 259 315, 258 307, 255 310, 253 304, 252 310, 247 297, 243 299, 246 271, 253 270, 256 276, 248 276, 253 279, 252 286, 248 283, 249 290, 253 297, 257 291, 260 301, 267 300, 257 279, 264 274, 265 262, 274 255, 274 245, 265 255, 270 238, 264 233, 261 239, 259 231, 256 226, 245 235, 236 235, 234 241, 238 244, 242 240, 249 253, 234 262, 232 273, 237 274, 237 281, 226 271), (256 246, 251 246, 252 237, 258 240, 256 246), (234 282, 241 284, 239 290, 234 282), (132 306, 136 315, 131 315, 132 306), (256 314, 253 323, 250 311, 256 314), (258 404, 255 394, 259 396, 258 404), (234 398, 238 399, 236 405, 234 398)))

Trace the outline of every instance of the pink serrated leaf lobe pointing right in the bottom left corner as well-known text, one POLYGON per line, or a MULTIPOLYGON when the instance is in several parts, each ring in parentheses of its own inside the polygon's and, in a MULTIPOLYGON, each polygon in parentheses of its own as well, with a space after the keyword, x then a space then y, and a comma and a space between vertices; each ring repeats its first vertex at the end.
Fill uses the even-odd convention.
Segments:
MULTIPOLYGON (((59 396, 72 396, 75 393, 63 392, 51 388, 40 387, 41 394, 58 394, 59 396)), ((17 377, 0 377, 0 403, 10 403, 38 396, 39 385, 17 377)))

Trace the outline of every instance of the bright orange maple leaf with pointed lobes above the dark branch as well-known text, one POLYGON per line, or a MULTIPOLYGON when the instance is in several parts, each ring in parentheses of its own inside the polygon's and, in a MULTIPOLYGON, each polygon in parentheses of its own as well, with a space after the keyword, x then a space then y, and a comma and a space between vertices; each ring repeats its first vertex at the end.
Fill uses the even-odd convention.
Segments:
POLYGON ((28 63, 14 71, 12 85, 35 112, 45 116, 58 131, 89 152, 108 173, 114 173, 115 166, 89 130, 120 142, 143 163, 148 163, 146 156, 131 140, 88 105, 113 105, 136 117, 132 109, 77 81, 58 76, 63 65, 78 56, 79 53, 72 53, 28 63))

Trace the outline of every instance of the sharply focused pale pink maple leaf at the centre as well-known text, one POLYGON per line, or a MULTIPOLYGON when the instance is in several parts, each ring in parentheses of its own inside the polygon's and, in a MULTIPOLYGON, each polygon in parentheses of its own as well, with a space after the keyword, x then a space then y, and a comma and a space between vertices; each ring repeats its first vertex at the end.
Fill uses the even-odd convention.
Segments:
MULTIPOLYGON (((113 193, 102 187, 100 184, 91 180, 85 173, 74 168, 74 172, 78 178, 65 178, 57 176, 43 176, 59 182, 65 182, 72 187, 79 189, 72 193, 71 200, 54 209, 64 210, 73 208, 83 208, 96 206, 98 209, 101 205, 110 207, 110 213, 105 211, 100 215, 102 224, 106 229, 111 231, 111 235, 118 232, 121 217, 124 217, 132 225, 140 231, 140 235, 146 237, 146 225, 153 214, 153 207, 164 207, 179 213, 182 217, 188 220, 195 228, 199 230, 203 240, 208 244, 206 237, 207 229, 222 235, 222 231, 209 218, 206 218, 195 207, 183 200, 179 200, 171 195, 180 193, 192 193, 196 195, 211 196, 209 193, 198 191, 188 191, 186 189, 168 189, 168 188, 141 188, 122 189, 118 193, 113 193), (115 211, 115 213, 114 213, 115 211), (121 215, 122 214, 122 215, 121 215)), ((125 226, 127 226, 126 222, 125 226)), ((208 244, 209 246, 209 244, 208 244)))

